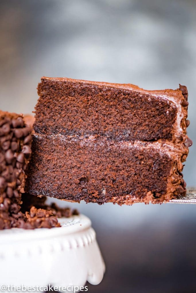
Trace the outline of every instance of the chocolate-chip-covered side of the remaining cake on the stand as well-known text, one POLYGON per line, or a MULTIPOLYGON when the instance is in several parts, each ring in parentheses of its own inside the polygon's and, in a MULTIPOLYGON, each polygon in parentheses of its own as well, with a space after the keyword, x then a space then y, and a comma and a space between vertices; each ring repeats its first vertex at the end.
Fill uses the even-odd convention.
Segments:
POLYGON ((0 229, 11 228, 20 212, 25 169, 31 154, 31 127, 20 115, 0 113, 0 229))

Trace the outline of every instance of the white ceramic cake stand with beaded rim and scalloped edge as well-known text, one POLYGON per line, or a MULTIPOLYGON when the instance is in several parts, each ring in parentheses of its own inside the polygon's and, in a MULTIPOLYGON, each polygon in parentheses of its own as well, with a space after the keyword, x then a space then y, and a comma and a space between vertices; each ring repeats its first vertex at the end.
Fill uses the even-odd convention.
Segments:
POLYGON ((0 285, 51 284, 60 292, 74 292, 65 287, 101 282, 105 265, 90 219, 79 215, 58 220, 60 228, 0 231, 0 285))

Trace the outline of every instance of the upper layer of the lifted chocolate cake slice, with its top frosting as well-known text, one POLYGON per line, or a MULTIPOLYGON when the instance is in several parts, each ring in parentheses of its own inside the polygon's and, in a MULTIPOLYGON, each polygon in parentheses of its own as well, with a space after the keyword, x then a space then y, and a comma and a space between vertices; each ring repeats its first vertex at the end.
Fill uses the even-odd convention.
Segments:
POLYGON ((38 94, 34 130, 40 134, 185 140, 188 102, 182 88, 146 91, 131 84, 42 77, 38 94))

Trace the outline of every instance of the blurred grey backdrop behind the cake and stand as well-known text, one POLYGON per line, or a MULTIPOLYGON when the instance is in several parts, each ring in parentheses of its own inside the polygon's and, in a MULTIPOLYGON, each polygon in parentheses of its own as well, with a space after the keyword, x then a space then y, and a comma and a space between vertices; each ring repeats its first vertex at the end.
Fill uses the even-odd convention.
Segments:
MULTIPOLYGON (((183 173, 196 185, 196 1, 1 0, 0 60, 0 108, 18 113, 32 112, 43 75, 186 85, 193 146, 183 173)), ((60 204, 97 232, 107 271, 89 292, 196 292, 196 206, 60 204)))

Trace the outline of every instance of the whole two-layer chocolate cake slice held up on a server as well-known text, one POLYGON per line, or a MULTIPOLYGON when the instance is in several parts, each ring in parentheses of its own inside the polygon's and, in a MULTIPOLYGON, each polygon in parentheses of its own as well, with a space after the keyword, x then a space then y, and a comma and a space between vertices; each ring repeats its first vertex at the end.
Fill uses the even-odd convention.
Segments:
POLYGON ((185 195, 187 88, 42 77, 27 192, 86 202, 185 195))

